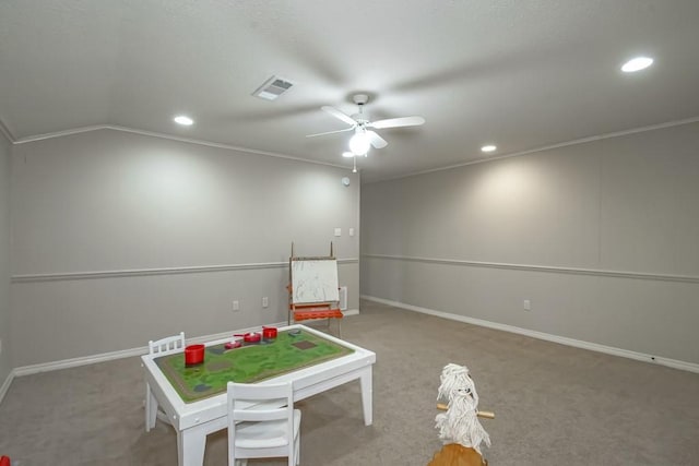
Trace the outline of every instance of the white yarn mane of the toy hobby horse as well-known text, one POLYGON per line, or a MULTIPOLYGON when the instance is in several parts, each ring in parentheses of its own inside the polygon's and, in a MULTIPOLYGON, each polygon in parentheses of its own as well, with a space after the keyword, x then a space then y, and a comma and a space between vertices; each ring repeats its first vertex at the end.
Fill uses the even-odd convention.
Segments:
POLYGON ((439 439, 443 444, 459 443, 481 454, 481 443, 485 442, 490 446, 490 437, 476 417, 478 394, 469 375, 469 368, 449 363, 442 369, 439 379, 441 385, 437 399, 449 402, 447 413, 440 413, 435 418, 439 439))

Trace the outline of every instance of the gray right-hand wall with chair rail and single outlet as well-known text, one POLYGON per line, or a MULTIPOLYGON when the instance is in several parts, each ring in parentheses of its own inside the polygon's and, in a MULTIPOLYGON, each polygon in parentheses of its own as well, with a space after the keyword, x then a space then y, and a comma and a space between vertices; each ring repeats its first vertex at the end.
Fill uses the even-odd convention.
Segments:
POLYGON ((691 123, 365 184, 362 294, 699 363, 698 180, 691 123))

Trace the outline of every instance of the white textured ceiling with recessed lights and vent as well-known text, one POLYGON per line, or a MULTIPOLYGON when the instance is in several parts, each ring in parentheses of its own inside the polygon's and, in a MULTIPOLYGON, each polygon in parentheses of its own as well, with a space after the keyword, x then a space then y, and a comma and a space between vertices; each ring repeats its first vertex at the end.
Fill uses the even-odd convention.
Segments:
POLYGON ((379 131, 364 180, 699 117, 698 0, 3 0, 0 120, 15 141, 92 126, 346 165, 379 131), (625 74, 636 55, 649 70, 625 74), (276 101, 251 93, 279 74, 276 101), (171 122, 185 112, 190 128, 171 122))

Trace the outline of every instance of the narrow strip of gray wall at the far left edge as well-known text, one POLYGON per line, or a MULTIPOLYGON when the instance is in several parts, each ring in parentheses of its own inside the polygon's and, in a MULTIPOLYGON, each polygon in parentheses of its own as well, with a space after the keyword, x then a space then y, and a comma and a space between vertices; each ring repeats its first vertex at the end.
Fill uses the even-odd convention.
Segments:
POLYGON ((0 386, 12 370, 10 351, 10 174, 11 146, 0 132, 0 386))

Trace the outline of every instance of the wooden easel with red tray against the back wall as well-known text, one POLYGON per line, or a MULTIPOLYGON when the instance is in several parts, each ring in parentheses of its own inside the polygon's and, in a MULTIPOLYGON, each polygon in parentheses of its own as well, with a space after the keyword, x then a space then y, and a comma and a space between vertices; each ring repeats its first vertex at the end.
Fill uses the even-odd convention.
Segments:
POLYGON ((296 256, 292 242, 292 255, 288 259, 288 323, 306 320, 337 320, 337 336, 342 337, 340 319, 340 294, 337 286, 337 261, 333 254, 332 242, 330 255, 296 256))

